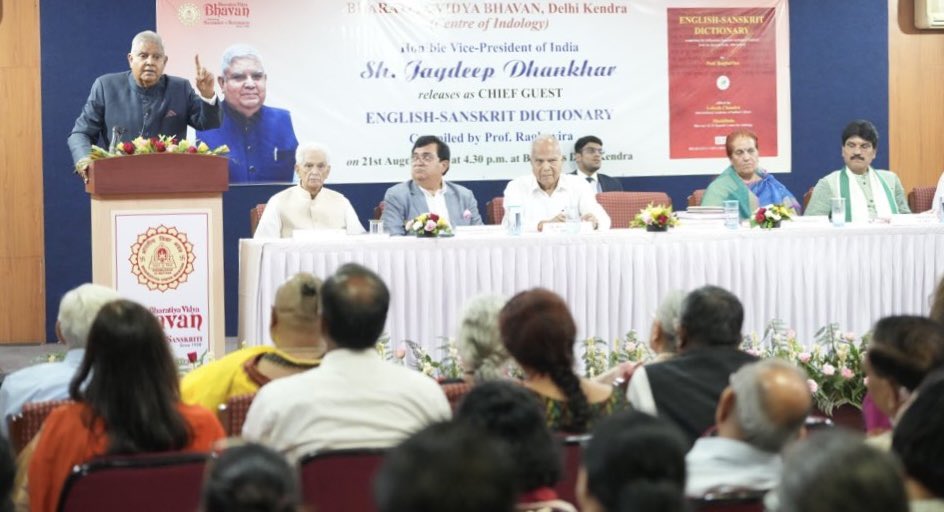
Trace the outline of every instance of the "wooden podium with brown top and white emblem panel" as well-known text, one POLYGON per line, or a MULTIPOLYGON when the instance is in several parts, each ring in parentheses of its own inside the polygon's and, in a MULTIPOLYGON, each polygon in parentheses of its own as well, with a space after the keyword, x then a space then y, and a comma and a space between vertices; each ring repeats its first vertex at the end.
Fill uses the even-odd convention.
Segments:
POLYGON ((153 153, 89 167, 92 281, 148 307, 178 359, 226 353, 222 193, 228 189, 227 159, 218 156, 153 153))

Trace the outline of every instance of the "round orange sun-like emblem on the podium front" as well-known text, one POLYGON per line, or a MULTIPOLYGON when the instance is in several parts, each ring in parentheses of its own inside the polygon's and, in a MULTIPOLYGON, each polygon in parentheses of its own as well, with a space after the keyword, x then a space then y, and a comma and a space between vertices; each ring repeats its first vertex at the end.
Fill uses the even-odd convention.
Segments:
POLYGON ((138 235, 131 246, 131 273, 148 290, 176 290, 193 272, 193 244, 177 228, 160 225, 138 235))

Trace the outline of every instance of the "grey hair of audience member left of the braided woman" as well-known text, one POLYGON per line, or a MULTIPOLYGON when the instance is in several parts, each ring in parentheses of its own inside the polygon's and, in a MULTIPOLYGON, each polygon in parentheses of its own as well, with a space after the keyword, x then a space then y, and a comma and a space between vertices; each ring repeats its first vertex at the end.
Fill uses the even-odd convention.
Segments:
POLYGON ((456 344, 459 356, 466 368, 475 372, 477 381, 501 378, 502 367, 511 358, 498 330, 498 316, 506 302, 506 297, 480 295, 462 310, 456 344))

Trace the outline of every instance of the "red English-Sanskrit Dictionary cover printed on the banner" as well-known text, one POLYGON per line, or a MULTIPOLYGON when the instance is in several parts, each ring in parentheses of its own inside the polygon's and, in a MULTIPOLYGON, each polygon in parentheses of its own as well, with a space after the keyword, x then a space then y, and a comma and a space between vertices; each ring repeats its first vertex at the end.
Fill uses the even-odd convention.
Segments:
POLYGON ((774 9, 668 9, 671 157, 724 157, 752 130, 777 156, 774 9))

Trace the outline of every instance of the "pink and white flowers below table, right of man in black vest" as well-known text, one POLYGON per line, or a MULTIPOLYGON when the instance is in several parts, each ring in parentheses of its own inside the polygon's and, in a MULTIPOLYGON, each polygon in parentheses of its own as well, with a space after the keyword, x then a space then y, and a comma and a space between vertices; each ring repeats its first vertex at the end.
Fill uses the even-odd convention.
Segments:
POLYGON ((862 409, 865 397, 863 361, 869 334, 857 337, 832 323, 816 332, 812 346, 797 341, 796 332, 773 320, 760 341, 745 337, 742 350, 758 357, 786 359, 806 371, 816 408, 830 416, 838 407, 862 409))

